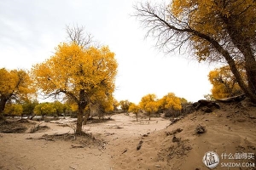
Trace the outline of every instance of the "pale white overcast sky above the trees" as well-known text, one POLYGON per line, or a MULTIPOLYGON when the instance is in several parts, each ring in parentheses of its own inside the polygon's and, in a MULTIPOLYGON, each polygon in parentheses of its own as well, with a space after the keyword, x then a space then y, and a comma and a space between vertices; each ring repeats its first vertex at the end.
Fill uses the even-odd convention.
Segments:
POLYGON ((169 92, 189 101, 203 99, 212 88, 207 75, 213 67, 154 48, 154 40, 145 40, 146 31, 131 17, 138 1, 1 0, 0 68, 30 70, 67 41, 67 25, 85 26, 116 54, 116 99, 138 103, 146 94, 160 99, 169 92))

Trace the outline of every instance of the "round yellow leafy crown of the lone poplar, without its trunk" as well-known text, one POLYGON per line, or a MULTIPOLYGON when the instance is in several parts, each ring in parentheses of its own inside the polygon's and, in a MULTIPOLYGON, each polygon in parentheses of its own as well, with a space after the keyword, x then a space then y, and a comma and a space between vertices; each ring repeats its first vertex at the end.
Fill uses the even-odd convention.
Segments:
POLYGON ((34 65, 33 73, 38 87, 49 94, 55 89, 73 91, 75 94, 84 89, 108 83, 113 92, 113 79, 117 63, 108 47, 83 49, 75 43, 61 43, 56 53, 43 64, 34 65))

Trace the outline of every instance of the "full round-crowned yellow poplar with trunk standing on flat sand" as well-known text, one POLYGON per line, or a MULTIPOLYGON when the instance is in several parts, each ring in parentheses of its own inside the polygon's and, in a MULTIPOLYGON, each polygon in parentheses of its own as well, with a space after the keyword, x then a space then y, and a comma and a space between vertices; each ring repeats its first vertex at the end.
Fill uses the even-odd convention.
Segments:
POLYGON ((84 48, 70 42, 55 50, 50 59, 33 65, 33 78, 44 94, 64 94, 78 105, 76 133, 82 133, 84 109, 93 96, 112 97, 118 64, 108 47, 84 48))

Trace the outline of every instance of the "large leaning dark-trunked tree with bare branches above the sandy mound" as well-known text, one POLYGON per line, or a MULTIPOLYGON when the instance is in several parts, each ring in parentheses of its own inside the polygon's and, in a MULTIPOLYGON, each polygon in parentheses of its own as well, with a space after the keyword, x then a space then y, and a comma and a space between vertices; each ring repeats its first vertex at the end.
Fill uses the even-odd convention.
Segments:
POLYGON ((168 5, 140 3, 135 16, 160 48, 171 52, 185 45, 199 61, 227 63, 256 103, 255 8, 255 0, 173 0, 168 5), (244 66, 246 81, 238 64, 244 66))

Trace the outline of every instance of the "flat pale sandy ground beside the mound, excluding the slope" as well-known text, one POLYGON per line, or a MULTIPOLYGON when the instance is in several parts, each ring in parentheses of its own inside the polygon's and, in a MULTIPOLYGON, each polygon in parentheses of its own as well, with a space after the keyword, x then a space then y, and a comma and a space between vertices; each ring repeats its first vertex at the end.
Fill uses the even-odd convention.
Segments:
POLYGON ((44 122, 41 126, 49 127, 44 132, 0 133, 0 169, 117 169, 113 161, 118 157, 116 149, 122 149, 123 144, 132 139, 163 129, 170 123, 161 118, 136 122, 133 115, 125 114, 111 118, 113 121, 84 126, 85 132, 103 140, 103 147, 73 148, 79 144, 37 139, 44 134, 73 133, 71 127, 59 126, 59 123, 69 124, 70 119, 55 121, 59 123, 44 122))

